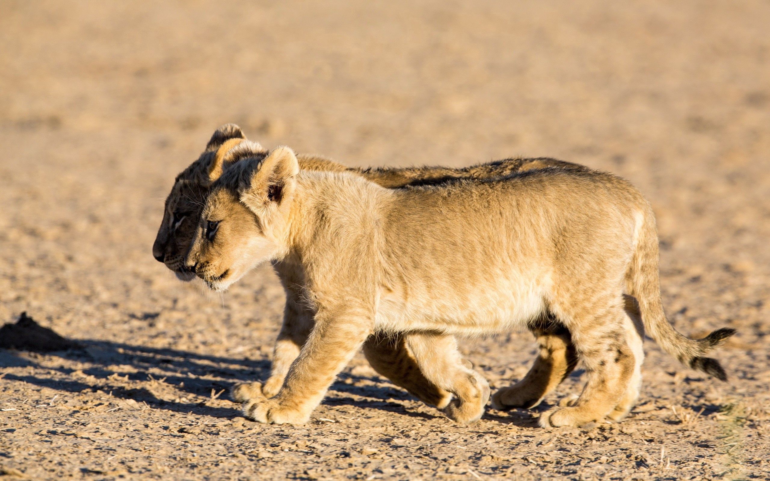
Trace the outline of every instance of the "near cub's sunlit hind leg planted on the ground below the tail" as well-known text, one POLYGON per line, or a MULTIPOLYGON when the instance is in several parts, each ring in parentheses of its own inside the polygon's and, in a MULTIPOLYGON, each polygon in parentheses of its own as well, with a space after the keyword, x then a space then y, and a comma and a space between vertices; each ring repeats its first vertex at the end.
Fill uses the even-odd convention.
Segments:
POLYGON ((608 304, 604 308, 597 308, 601 302, 594 302, 590 306, 559 309, 559 318, 567 322, 588 382, 571 406, 543 413, 541 426, 583 426, 598 422, 624 399, 634 373, 635 356, 628 345, 621 299, 608 304))

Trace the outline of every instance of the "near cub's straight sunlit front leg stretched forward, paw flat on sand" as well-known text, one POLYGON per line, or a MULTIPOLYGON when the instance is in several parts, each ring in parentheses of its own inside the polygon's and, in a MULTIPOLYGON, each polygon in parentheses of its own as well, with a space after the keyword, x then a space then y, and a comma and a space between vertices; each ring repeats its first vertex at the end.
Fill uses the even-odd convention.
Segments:
POLYGON ((259 423, 306 423, 336 375, 369 336, 373 319, 368 309, 319 309, 283 387, 270 399, 246 403, 244 416, 259 423))

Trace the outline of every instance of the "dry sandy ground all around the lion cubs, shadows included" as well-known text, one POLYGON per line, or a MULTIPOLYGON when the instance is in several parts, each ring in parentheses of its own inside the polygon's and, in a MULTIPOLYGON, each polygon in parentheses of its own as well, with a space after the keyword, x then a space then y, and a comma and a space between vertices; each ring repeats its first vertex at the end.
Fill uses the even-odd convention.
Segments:
MULTIPOLYGON (((0 350, 0 473, 770 479, 770 4, 363 5, 0 2, 0 323, 26 311, 82 346, 0 350), (276 277, 220 299, 150 252, 173 176, 224 122, 350 165, 624 175, 658 213, 672 322, 739 330, 730 382, 648 342, 619 425, 547 431, 541 406, 463 427, 357 358, 310 424, 245 422, 216 394, 266 377, 276 277)), ((495 386, 534 355, 526 333, 464 346, 495 386)))

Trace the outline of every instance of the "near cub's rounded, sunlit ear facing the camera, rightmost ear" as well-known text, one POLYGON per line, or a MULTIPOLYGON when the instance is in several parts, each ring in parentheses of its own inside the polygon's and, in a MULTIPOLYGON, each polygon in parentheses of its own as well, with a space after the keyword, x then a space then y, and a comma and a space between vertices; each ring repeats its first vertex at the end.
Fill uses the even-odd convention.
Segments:
POLYGON ((294 151, 281 146, 270 152, 254 170, 240 201, 257 214, 268 214, 293 195, 299 172, 294 151))

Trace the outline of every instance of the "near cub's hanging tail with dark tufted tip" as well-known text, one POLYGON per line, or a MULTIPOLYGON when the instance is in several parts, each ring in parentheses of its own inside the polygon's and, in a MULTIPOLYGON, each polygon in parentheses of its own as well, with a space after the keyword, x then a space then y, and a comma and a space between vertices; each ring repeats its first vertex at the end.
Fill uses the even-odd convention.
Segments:
MULTIPOLYGON (((646 203, 646 202, 645 202, 646 203)), ((704 339, 689 339, 671 326, 663 312, 660 274, 658 272, 658 230, 652 209, 646 205, 638 212, 634 240, 636 249, 626 273, 628 291, 639 302, 639 312, 648 336, 658 342, 665 352, 675 356, 692 369, 698 369, 721 381, 727 380, 725 369, 716 359, 705 357, 725 339, 735 334, 735 329, 722 328, 711 332, 704 339)))

